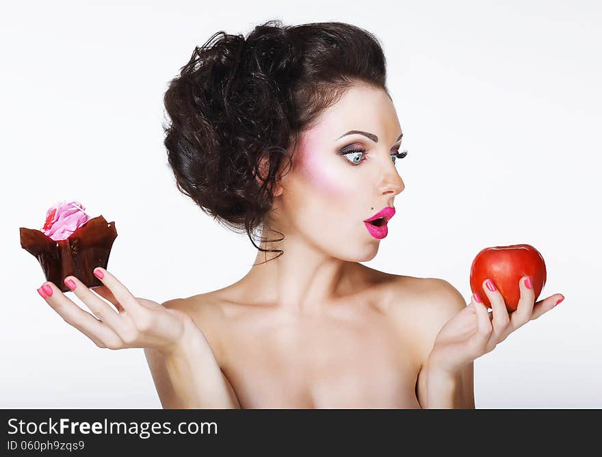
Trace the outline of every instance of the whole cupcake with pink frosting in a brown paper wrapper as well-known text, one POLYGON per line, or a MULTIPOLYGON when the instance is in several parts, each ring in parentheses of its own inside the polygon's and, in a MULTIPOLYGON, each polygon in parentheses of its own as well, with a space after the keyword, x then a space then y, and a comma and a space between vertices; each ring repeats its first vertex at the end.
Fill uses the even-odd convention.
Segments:
POLYGON ((90 218, 85 209, 79 202, 63 201, 47 211, 41 230, 19 228, 21 247, 38 259, 46 280, 63 292, 70 291, 63 282, 66 276, 90 288, 103 285, 94 268, 107 268, 117 237, 115 222, 90 218))

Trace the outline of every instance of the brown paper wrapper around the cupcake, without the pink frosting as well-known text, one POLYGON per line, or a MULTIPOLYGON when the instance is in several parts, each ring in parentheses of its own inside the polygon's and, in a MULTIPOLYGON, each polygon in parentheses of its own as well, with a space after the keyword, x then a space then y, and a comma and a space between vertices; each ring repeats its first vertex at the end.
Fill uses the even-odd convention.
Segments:
POLYGON ((61 291, 70 291, 63 282, 67 276, 75 276, 90 288, 103 285, 94 276, 94 268, 107 268, 117 237, 115 222, 107 222, 103 216, 92 218, 59 241, 39 230, 20 227, 19 232, 21 247, 38 259, 46 280, 61 291))

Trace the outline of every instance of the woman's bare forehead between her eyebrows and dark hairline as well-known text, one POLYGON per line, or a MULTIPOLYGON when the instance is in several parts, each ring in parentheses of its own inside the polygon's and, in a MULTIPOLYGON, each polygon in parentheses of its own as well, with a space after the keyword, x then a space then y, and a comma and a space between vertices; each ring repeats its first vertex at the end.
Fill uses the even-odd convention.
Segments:
POLYGON ((369 86, 352 86, 346 90, 341 99, 318 118, 312 130, 313 138, 330 141, 350 130, 363 130, 375 133, 379 140, 395 142, 402 132, 387 92, 369 86))

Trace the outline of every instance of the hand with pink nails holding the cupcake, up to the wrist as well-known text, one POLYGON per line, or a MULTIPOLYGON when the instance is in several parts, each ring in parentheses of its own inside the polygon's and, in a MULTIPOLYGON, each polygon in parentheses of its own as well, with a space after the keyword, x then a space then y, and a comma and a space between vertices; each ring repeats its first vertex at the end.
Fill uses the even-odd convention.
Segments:
POLYGON ((104 275, 101 278, 103 285, 95 287, 94 292, 111 302, 116 309, 96 296, 75 276, 67 276, 66 285, 72 289, 75 283, 73 293, 96 317, 83 311, 49 281, 38 291, 67 324, 77 328, 99 348, 151 348, 169 356, 179 349, 186 331, 196 328, 200 332, 192 318, 183 311, 167 309, 152 300, 136 298, 107 270, 101 267, 94 270, 104 275), (68 280, 73 283, 70 285, 68 280))

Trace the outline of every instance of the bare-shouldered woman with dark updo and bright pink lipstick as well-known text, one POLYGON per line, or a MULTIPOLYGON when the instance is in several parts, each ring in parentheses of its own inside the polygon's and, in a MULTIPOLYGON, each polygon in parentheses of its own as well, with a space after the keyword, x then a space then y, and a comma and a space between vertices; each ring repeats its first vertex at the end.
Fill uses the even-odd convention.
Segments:
POLYGON ((96 268, 115 309, 66 278, 98 319, 51 283, 45 299, 101 348, 145 348, 164 408, 474 408, 474 359, 560 296, 534 304, 522 278, 508 315, 484 284, 488 313, 445 280, 359 263, 404 190, 385 75, 378 40, 345 23, 215 34, 170 83, 165 145, 179 190, 256 262, 163 304, 96 268))

